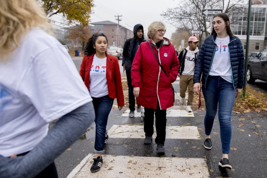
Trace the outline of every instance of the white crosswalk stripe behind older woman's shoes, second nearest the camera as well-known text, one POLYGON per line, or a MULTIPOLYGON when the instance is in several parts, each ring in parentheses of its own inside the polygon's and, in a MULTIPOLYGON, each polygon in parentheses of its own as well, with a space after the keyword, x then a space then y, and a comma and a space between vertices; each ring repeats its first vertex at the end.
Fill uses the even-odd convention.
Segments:
MULTIPOLYGON (((154 126, 154 131, 156 127, 154 126)), ((109 138, 138 138, 145 136, 143 125, 113 125, 109 131, 109 138)), ((153 138, 157 134, 154 132, 153 138)), ((200 134, 196 126, 166 126, 166 139, 199 139, 200 134)))

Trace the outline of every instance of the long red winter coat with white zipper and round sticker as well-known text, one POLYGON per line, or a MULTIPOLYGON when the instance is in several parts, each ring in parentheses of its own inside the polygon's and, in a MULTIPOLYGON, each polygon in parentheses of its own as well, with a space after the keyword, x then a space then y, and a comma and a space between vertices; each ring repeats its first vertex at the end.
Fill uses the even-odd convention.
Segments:
POLYGON ((179 66, 177 54, 169 39, 164 38, 163 45, 159 49, 152 40, 141 43, 131 68, 132 85, 140 87, 136 103, 143 107, 157 109, 159 101, 160 109, 172 107, 171 83, 177 78, 179 66), (168 77, 161 70, 148 43, 151 44, 168 77))

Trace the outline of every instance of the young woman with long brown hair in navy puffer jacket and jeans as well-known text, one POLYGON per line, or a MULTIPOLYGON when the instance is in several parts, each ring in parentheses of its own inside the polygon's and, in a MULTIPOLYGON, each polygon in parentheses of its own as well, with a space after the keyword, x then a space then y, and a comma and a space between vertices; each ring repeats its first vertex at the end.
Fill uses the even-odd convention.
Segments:
POLYGON ((232 169, 228 160, 232 135, 231 116, 235 97, 244 85, 244 52, 241 41, 233 36, 228 15, 214 15, 212 36, 201 45, 194 73, 194 91, 201 89, 206 104, 204 120, 206 139, 204 147, 212 148, 211 131, 219 103, 219 123, 222 142, 222 159, 219 165, 232 169))

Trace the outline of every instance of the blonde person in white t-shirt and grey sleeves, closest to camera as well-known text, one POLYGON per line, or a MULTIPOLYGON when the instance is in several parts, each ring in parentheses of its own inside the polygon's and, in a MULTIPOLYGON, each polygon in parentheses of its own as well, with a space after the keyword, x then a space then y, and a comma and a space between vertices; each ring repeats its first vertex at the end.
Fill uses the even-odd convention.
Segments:
POLYGON ((95 119, 92 98, 52 28, 36 0, 1 0, 1 178, 57 178, 55 158, 95 119))

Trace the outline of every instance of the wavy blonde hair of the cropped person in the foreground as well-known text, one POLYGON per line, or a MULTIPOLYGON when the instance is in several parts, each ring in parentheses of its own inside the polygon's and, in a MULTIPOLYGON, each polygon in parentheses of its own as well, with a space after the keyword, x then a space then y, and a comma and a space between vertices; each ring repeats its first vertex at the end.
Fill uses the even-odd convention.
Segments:
POLYGON ((4 61, 21 44, 22 37, 35 27, 53 35, 53 26, 36 0, 1 0, 0 61, 4 61))

